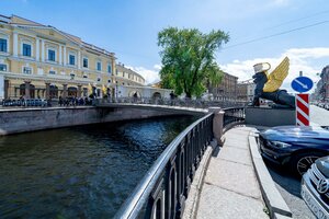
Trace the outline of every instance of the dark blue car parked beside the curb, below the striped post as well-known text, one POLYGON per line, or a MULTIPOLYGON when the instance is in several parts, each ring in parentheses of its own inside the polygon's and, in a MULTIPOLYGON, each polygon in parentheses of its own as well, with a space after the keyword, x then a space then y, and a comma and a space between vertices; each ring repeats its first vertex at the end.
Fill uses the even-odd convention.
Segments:
POLYGON ((321 157, 329 155, 329 130, 317 126, 276 126, 260 132, 264 159, 288 165, 303 175, 321 157))

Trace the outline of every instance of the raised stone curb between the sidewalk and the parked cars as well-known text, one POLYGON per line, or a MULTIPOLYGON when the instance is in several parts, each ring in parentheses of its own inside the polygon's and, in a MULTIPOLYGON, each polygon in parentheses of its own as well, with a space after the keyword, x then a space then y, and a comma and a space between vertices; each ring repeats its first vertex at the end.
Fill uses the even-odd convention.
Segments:
POLYGON ((256 175, 261 187, 262 196, 270 211, 271 218, 292 218, 293 214, 277 191, 268 168, 258 150, 257 129, 249 132, 249 149, 256 175))

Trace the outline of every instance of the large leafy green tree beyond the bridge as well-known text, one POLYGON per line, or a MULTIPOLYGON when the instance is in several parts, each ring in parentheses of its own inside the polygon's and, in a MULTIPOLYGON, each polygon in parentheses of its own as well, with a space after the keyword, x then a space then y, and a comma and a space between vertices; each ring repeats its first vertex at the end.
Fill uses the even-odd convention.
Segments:
POLYGON ((203 34, 196 28, 168 27, 158 34, 161 87, 177 94, 201 96, 206 87, 220 83, 223 71, 215 61, 215 51, 229 36, 223 31, 203 34))

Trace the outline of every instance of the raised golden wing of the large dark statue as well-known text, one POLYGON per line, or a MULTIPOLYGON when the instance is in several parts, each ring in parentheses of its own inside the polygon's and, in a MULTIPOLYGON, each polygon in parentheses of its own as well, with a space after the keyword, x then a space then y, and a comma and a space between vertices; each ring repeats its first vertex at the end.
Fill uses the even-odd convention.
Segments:
POLYGON ((283 61, 268 76, 268 82, 263 88, 263 92, 274 92, 287 77, 290 70, 290 59, 285 57, 283 61))

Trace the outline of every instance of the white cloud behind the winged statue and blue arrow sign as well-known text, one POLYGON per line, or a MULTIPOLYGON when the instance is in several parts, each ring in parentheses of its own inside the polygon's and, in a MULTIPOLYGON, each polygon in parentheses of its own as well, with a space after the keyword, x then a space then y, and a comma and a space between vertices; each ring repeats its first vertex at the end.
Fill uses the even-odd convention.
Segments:
MULTIPOLYGON (((303 76, 309 77, 314 82, 319 80, 318 72, 322 70, 329 62, 329 47, 318 48, 291 48, 275 58, 254 58, 250 60, 234 60, 231 64, 219 65, 220 68, 230 74, 239 77, 239 81, 251 79, 253 74, 253 65, 258 62, 270 62, 274 68, 287 56, 291 59, 290 73, 284 80, 282 88, 293 92, 291 89, 291 82, 294 78, 299 76, 299 71, 303 71, 303 76), (324 60, 322 60, 324 59, 324 60)), ((270 70, 270 71, 271 71, 270 70)))

